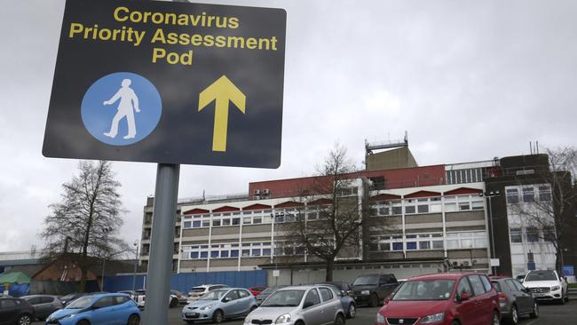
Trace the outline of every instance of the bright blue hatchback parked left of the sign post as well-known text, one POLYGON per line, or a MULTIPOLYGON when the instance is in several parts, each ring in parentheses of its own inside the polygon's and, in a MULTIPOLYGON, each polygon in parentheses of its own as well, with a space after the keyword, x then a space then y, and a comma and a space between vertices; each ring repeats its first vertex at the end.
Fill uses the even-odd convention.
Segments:
POLYGON ((79 297, 46 319, 58 325, 138 325, 140 311, 126 294, 105 293, 79 297))

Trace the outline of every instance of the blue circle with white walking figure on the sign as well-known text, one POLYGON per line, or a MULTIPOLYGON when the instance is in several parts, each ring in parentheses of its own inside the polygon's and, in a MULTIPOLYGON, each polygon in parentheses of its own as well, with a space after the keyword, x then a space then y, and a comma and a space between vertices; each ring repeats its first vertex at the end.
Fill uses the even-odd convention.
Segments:
POLYGON ((145 139, 162 115, 161 95, 142 75, 105 75, 84 94, 81 113, 92 137, 113 146, 145 139))

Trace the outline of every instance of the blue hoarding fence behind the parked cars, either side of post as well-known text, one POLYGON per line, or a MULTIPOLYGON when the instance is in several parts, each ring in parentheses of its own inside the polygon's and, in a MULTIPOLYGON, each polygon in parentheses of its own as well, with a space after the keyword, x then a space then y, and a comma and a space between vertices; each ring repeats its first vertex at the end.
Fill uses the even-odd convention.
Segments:
MULTIPOLYGON (((135 289, 144 289, 146 274, 132 274, 106 276, 104 290, 116 292, 132 289, 132 280, 135 279, 135 289)), ((170 276, 170 289, 176 289, 184 294, 202 284, 226 284, 229 287, 249 288, 266 285, 266 271, 229 271, 229 272, 203 272, 203 273, 178 273, 170 276)))

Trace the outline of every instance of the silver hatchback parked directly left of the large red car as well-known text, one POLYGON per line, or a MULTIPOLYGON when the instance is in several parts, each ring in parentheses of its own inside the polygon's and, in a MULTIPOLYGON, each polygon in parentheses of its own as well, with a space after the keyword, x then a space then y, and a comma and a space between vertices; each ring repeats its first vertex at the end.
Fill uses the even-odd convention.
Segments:
POLYGON ((341 300, 324 285, 287 287, 275 291, 244 320, 244 325, 344 325, 341 300))

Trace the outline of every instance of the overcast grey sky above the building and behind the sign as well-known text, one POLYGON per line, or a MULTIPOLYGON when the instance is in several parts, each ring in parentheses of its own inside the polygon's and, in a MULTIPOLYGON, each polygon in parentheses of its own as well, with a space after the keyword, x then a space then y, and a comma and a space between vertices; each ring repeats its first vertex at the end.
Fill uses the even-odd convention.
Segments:
MULTIPOLYGON (((577 2, 206 1, 284 8, 281 167, 181 166, 179 197, 248 191, 250 181, 311 175, 338 141, 359 164, 364 139, 408 131, 417 163, 459 163, 573 146, 577 2)), ((0 11, 0 251, 42 247, 48 206, 77 161, 41 151, 62 0, 0 11)), ((139 239, 154 163, 114 163, 121 231, 139 239)))

